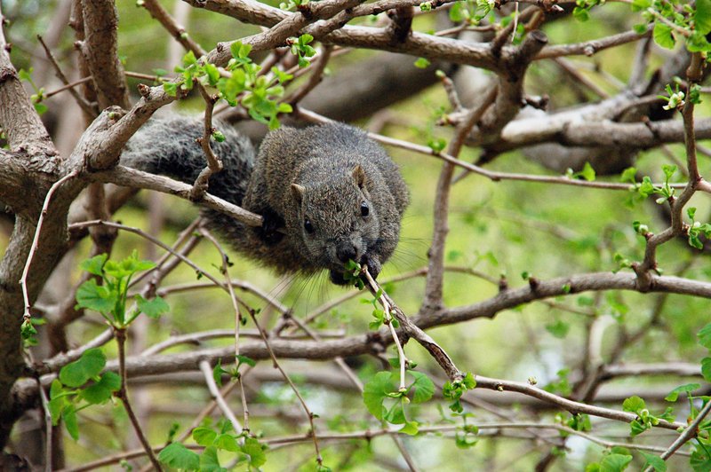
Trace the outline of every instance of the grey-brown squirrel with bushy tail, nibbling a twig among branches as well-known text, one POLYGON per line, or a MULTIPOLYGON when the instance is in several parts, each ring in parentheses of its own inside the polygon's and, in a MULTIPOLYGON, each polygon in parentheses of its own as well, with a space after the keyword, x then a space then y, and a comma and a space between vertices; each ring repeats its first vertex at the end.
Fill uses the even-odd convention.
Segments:
MULTIPOLYGON (((226 123, 211 146, 223 169, 208 192, 263 218, 250 227, 212 209, 207 226, 238 252, 278 273, 330 271, 346 285, 345 264, 366 264, 376 278, 399 240, 409 195, 400 171, 363 130, 329 122, 270 131, 255 153, 226 123)), ((203 125, 185 116, 153 118, 128 141, 121 164, 186 183, 205 167, 196 138, 203 125)))

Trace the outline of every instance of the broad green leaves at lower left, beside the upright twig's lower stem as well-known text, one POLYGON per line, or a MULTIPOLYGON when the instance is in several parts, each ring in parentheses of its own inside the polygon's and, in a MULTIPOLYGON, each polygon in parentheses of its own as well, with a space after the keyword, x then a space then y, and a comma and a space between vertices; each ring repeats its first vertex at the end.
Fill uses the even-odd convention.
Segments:
POLYGON ((81 358, 61 368, 59 378, 50 387, 52 424, 56 426, 61 419, 75 440, 79 438, 76 413, 106 403, 121 388, 118 374, 100 374, 104 366, 106 356, 100 349, 85 350, 81 358))

